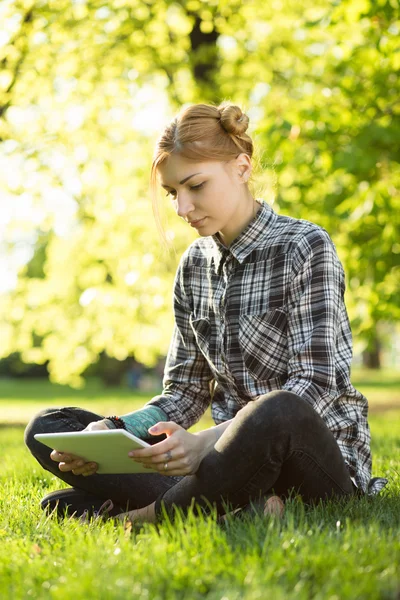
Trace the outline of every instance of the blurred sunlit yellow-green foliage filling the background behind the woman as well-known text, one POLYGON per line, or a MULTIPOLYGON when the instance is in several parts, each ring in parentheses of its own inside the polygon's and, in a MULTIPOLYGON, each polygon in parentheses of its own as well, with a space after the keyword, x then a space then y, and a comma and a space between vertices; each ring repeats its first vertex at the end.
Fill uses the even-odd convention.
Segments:
POLYGON ((356 335, 399 318, 397 2, 15 0, 0 17, 5 239, 35 248, 0 298, 2 356, 78 386, 101 352, 166 352, 193 232, 167 207, 175 253, 160 243, 152 147, 178 106, 225 98, 248 108, 259 195, 275 179, 281 212, 332 235, 356 335))

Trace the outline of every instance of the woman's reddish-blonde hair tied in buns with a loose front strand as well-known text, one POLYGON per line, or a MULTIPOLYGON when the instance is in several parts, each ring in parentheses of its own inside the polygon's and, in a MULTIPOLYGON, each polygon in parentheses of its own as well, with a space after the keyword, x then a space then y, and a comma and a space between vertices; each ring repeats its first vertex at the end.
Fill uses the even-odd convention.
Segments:
POLYGON ((249 118, 239 106, 194 104, 183 108, 158 138, 153 155, 150 185, 153 214, 165 240, 157 202, 157 169, 171 154, 193 161, 230 161, 239 154, 253 156, 253 142, 246 133, 249 118))

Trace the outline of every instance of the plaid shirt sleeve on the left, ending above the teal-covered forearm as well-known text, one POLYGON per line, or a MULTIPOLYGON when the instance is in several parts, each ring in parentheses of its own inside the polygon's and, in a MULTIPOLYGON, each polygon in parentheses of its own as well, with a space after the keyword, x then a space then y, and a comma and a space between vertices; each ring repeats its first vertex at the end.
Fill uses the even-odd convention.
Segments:
POLYGON ((165 364, 163 391, 148 404, 159 406, 171 421, 187 429, 201 418, 211 403, 213 375, 190 325, 192 309, 185 293, 183 259, 174 282, 175 324, 165 364))

